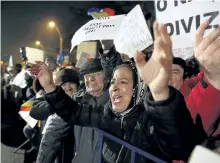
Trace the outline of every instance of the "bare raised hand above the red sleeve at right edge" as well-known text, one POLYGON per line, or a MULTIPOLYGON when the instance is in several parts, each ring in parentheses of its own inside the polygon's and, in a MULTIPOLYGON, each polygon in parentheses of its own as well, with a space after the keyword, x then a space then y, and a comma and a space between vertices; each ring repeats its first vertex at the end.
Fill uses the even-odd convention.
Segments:
POLYGON ((204 32, 209 25, 207 20, 201 24, 195 35, 195 58, 204 68, 209 82, 220 90, 220 27, 212 30, 206 37, 204 32))

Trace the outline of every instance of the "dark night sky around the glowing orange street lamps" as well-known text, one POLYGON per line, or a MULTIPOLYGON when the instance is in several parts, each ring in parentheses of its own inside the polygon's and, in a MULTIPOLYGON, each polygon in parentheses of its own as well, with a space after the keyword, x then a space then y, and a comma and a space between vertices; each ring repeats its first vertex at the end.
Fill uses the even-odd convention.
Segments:
MULTIPOLYGON (((40 40, 46 49, 56 51, 59 35, 56 30, 48 28, 50 20, 56 21, 65 39, 92 19, 87 16, 91 7, 110 7, 116 14, 125 14, 135 4, 140 4, 140 1, 1 1, 1 56, 13 55, 17 61, 20 59, 19 48, 36 47, 36 40, 40 40), (70 6, 74 9, 70 10, 70 6)), ((142 4, 152 9, 152 2, 144 1, 142 4)))

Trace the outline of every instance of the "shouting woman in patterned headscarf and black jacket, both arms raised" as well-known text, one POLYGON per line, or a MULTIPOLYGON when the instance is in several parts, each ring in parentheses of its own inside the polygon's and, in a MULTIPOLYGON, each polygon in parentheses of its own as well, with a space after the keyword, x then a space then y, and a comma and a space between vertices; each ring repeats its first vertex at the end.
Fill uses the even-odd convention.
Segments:
MULTIPOLYGON (((137 68, 134 63, 124 63, 114 70, 110 100, 104 107, 77 103, 69 98, 55 86, 52 74, 42 64, 32 64, 30 72, 39 74, 51 112, 69 126, 100 128, 165 161, 187 160, 196 142, 194 124, 183 96, 168 87, 172 43, 166 26, 155 23, 154 32, 151 59, 146 63, 143 53, 138 53, 135 56, 137 68), (139 80, 138 72, 143 80, 139 80), (147 96, 139 81, 149 86, 147 96)), ((129 162, 130 155, 121 145, 112 145, 112 142, 103 145, 102 156, 106 163, 129 162), (111 151, 111 155, 107 151, 111 151)), ((141 156, 135 158, 136 162, 148 162, 141 156)))

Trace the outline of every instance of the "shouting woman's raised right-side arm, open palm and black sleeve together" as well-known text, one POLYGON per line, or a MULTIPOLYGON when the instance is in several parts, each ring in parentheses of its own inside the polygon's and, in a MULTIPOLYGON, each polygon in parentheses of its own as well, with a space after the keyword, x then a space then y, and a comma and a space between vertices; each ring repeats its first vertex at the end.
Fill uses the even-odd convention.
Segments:
POLYGON ((168 87, 172 70, 172 42, 166 26, 154 24, 154 52, 148 62, 138 52, 135 62, 138 71, 150 88, 145 101, 146 115, 154 127, 154 137, 160 151, 168 158, 187 160, 196 144, 194 124, 183 96, 168 87))

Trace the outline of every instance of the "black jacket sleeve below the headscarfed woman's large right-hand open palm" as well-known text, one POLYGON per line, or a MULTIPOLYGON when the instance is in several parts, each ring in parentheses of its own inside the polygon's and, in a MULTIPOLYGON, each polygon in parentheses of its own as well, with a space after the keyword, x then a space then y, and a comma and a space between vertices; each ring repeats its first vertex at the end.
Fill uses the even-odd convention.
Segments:
POLYGON ((154 137, 163 149, 163 155, 170 159, 187 161, 200 141, 199 137, 196 137, 195 125, 183 95, 169 87, 168 99, 155 101, 152 94, 149 94, 145 108, 154 127, 154 137))

